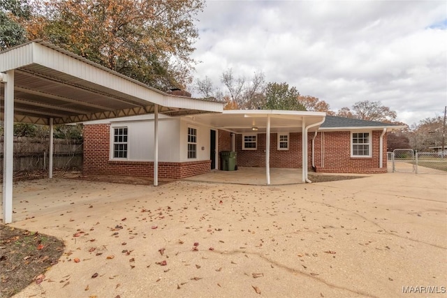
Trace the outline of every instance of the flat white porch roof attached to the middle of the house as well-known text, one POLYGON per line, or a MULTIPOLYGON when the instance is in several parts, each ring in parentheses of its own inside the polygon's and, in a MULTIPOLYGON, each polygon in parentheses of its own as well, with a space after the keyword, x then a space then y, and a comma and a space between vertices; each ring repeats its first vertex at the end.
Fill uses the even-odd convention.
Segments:
MULTIPOLYGON (((302 132, 305 126, 318 124, 325 119, 324 112, 302 112, 282 110, 226 110, 222 114, 200 114, 189 116, 189 121, 232 133, 265 133, 268 117, 272 133, 302 132)), ((309 131, 316 131, 314 126, 309 131)))

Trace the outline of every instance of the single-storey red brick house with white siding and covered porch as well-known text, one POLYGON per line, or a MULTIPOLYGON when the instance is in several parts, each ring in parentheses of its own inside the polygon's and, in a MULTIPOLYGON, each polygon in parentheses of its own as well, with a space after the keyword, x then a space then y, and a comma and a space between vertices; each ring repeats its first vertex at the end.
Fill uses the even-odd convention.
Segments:
MULTIPOLYGON (((220 170, 221 151, 235 151, 238 167, 302 168, 303 180, 308 170, 383 173, 387 132, 396 128, 400 126, 323 112, 165 116, 159 119, 158 174, 182 179, 220 170)), ((153 132, 153 115, 85 123, 84 172, 152 177, 153 132)))

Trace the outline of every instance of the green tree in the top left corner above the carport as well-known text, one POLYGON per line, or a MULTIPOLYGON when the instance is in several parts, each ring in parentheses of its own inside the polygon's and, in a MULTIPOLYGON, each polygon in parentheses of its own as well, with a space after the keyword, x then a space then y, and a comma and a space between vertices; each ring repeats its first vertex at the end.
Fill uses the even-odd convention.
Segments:
POLYGON ((30 15, 28 0, 0 0, 0 50, 27 41, 27 32, 17 20, 30 15))

